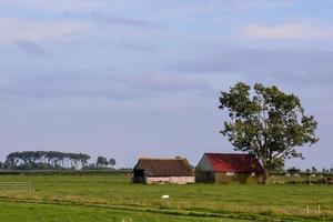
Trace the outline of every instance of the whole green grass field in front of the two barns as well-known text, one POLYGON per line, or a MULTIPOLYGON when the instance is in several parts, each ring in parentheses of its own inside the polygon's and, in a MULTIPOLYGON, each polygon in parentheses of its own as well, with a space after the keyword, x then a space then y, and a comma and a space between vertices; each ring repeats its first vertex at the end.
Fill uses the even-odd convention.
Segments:
POLYGON ((333 221, 329 185, 144 185, 123 175, 60 174, 0 182, 32 183, 30 192, 2 188, 0 221, 333 221))

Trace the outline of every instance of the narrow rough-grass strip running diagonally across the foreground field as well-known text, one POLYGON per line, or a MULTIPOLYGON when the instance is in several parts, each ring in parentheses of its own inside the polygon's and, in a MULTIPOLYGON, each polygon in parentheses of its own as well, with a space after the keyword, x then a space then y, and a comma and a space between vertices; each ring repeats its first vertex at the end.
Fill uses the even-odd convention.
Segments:
MULTIPOLYGON (((169 210, 169 209, 152 209, 152 208, 139 208, 139 206, 127 206, 127 205, 109 205, 109 204, 98 204, 98 203, 78 203, 70 201, 39 201, 39 200, 21 200, 21 199, 7 199, 0 198, 0 202, 11 202, 11 203, 29 203, 29 204, 44 204, 44 205, 62 205, 62 206, 85 206, 94 209, 109 209, 118 211, 129 211, 129 212, 144 212, 144 213, 158 213, 173 216, 193 216, 198 220, 202 219, 232 219, 238 221, 317 221, 320 218, 302 218, 302 216, 284 216, 284 215, 263 215, 263 214, 250 214, 243 212, 225 212, 225 213, 210 213, 200 211, 184 211, 184 210, 169 210)), ((0 213, 1 215, 1 213, 0 213)), ((325 221, 325 219, 322 219, 325 221)))

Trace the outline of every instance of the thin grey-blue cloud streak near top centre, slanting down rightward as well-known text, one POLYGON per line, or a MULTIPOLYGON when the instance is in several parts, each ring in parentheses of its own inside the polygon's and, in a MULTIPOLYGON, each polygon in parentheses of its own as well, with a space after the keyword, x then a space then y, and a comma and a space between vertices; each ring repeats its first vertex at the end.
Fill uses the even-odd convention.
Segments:
POLYGON ((132 27, 132 28, 141 28, 141 29, 160 29, 163 27, 159 22, 147 21, 143 19, 104 16, 95 11, 92 12, 91 14, 97 22, 100 22, 105 26, 121 26, 121 27, 132 27))

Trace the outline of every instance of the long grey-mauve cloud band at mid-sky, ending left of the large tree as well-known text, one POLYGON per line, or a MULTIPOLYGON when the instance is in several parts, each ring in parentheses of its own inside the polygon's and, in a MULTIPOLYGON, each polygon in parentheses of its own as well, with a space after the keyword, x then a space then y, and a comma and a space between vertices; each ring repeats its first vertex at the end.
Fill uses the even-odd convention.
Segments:
POLYGON ((10 74, 0 79, 0 95, 14 98, 147 98, 173 92, 210 90, 199 78, 167 74, 10 74))

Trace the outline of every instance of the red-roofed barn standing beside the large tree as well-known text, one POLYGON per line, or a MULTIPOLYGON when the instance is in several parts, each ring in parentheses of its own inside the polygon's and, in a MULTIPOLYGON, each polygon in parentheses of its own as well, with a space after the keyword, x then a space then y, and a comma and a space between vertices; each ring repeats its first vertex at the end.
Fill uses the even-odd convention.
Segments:
POLYGON ((263 169, 250 154, 204 153, 195 168, 196 182, 260 182, 263 169))

